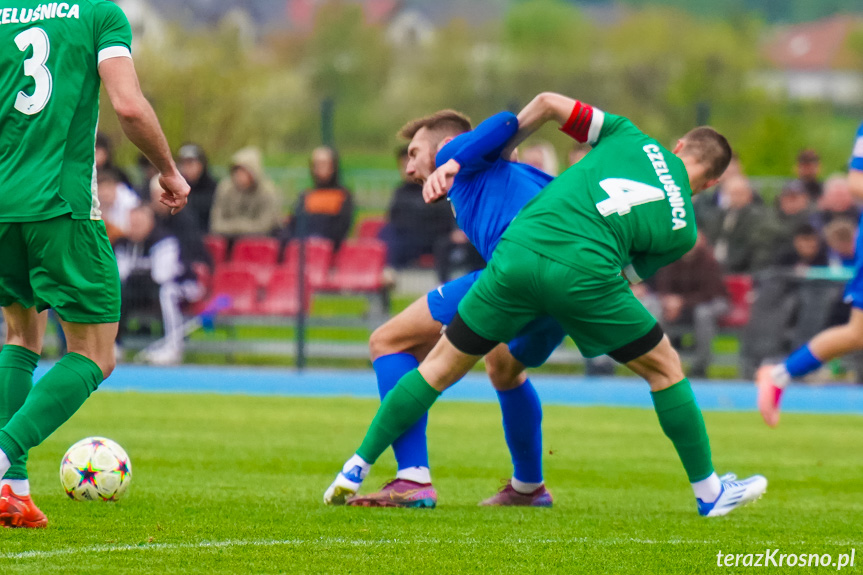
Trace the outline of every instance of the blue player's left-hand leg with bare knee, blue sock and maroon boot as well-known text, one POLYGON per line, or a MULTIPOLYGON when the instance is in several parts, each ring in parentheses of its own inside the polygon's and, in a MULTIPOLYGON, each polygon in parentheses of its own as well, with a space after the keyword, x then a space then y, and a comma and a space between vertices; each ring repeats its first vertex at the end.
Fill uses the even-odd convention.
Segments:
MULTIPOLYGON (((443 287, 443 286, 442 286, 443 287)), ((433 317, 432 292, 377 328, 369 339, 372 367, 383 401, 406 373, 416 369, 440 338, 441 323, 433 317)), ((369 495, 356 496, 349 505, 362 507, 434 507, 437 493, 431 484, 424 415, 392 444, 396 478, 369 495)))

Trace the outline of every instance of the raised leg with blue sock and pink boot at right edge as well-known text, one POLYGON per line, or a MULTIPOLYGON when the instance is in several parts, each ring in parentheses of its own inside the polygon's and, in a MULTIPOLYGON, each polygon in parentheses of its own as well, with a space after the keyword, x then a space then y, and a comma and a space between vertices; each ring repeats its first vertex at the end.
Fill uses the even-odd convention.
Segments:
POLYGON ((851 308, 848 323, 828 328, 779 365, 765 365, 755 375, 758 409, 764 422, 779 423, 779 402, 791 380, 817 370, 827 361, 863 349, 863 309, 851 308))

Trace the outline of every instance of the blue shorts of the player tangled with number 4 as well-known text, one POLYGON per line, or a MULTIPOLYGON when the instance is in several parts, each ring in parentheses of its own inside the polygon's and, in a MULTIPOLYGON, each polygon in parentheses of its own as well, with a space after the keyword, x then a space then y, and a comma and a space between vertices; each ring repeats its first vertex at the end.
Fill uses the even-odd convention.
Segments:
MULTIPOLYGON (((449 325, 458 311, 459 302, 479 279, 480 273, 482 270, 471 272, 429 292, 428 306, 435 321, 449 325)), ((554 318, 539 317, 524 326, 515 339, 509 342, 509 351, 526 367, 539 367, 548 360, 564 337, 566 333, 554 318)))

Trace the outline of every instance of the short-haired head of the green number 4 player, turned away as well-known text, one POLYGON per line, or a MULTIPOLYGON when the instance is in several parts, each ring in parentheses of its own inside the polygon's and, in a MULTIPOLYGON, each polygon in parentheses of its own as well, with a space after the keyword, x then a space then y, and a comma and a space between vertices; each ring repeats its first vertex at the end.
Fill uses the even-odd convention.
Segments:
POLYGON ((673 151, 686 166, 694 194, 715 186, 731 162, 728 140, 708 126, 691 130, 677 140, 673 151))

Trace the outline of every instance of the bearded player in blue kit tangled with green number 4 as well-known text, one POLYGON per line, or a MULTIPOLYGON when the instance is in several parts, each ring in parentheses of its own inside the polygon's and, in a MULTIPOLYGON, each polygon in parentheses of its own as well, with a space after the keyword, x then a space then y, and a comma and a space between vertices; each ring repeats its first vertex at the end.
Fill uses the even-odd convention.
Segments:
MULTIPOLYGON (((515 115, 500 113, 471 131, 470 120, 443 110, 412 121, 399 135, 410 140, 408 176, 424 182, 436 166, 457 159, 464 166, 448 200, 459 227, 488 260, 516 213, 551 181, 551 176, 524 164, 502 160, 502 145, 515 134, 515 115)), ((369 342, 381 399, 406 373, 419 365, 437 343, 444 326, 480 272, 468 274, 429 292, 375 330, 369 342)), ((509 345, 486 356, 486 370, 503 412, 513 478, 483 505, 548 507, 551 494, 542 476, 542 408, 526 367, 542 365, 564 338, 551 318, 528 325, 509 345)), ((429 473, 426 423, 423 417, 393 443, 396 478, 380 491, 355 496, 348 505, 365 507, 434 507, 437 493, 429 473)))

